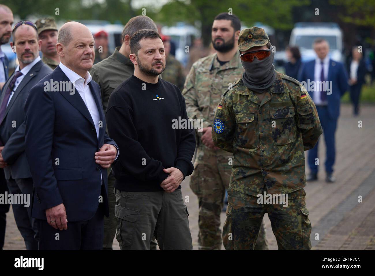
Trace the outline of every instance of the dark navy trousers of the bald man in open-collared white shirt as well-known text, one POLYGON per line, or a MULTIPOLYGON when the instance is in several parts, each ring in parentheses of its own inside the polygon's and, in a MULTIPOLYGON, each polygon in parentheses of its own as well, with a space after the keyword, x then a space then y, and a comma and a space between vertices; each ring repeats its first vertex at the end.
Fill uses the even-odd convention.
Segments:
MULTIPOLYGON (((102 185, 103 186, 103 185, 102 185)), ((102 194, 104 194, 102 187, 102 194)), ((101 250, 104 237, 104 207, 99 203, 95 215, 84 221, 70 222, 68 229, 55 229, 47 220, 37 219, 39 250, 101 250)))

